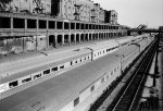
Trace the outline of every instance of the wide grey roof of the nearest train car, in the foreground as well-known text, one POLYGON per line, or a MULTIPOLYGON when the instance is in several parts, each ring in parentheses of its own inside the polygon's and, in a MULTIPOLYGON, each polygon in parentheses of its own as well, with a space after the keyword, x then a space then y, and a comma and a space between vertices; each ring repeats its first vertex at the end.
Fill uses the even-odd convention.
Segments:
POLYGON ((116 55, 105 55, 2 99, 0 108, 2 111, 34 111, 34 109, 37 110, 41 107, 49 110, 48 108, 52 109, 52 103, 53 108, 59 110, 76 99, 80 90, 103 77, 104 72, 117 66, 120 61, 120 58, 116 55))

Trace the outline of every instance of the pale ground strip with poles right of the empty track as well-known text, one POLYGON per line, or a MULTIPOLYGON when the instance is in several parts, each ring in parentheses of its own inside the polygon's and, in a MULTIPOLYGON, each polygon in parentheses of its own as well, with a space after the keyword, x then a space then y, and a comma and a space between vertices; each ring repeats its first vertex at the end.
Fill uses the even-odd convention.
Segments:
POLYGON ((145 102, 143 107, 145 106, 151 107, 152 106, 150 102, 151 96, 159 98, 159 102, 158 100, 155 100, 155 102, 159 103, 158 111, 163 111, 163 48, 161 48, 158 55, 159 55, 158 57, 159 76, 155 79, 155 87, 153 87, 153 75, 155 67, 155 57, 154 57, 140 101, 145 102))

